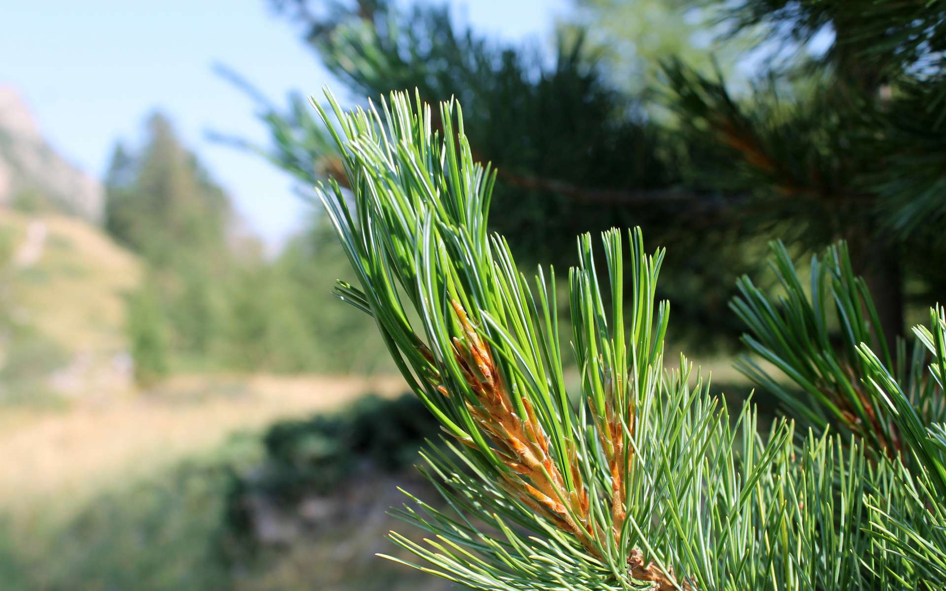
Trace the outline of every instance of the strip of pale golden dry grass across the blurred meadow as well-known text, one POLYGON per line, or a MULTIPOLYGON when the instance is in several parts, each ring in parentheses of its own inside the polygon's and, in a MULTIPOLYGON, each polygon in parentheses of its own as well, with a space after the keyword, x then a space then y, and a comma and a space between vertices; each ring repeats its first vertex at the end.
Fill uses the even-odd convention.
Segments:
POLYGON ((402 384, 399 377, 182 376, 108 403, 2 409, 0 508, 65 510, 110 481, 147 477, 236 431, 337 408, 366 391, 395 394, 402 384))

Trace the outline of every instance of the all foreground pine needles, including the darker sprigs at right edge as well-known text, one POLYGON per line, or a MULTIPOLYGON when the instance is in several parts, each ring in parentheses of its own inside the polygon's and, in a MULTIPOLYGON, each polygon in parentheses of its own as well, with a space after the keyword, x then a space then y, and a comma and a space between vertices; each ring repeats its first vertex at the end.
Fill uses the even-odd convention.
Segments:
POLYGON ((732 303, 740 368, 787 415, 760 426, 664 367, 663 251, 639 229, 578 237, 569 336, 554 270, 527 279, 487 232, 495 174, 458 104, 326 96, 344 180, 320 194, 358 284, 337 295, 444 430, 420 467, 443 502, 395 512, 429 532, 391 534, 412 566, 503 591, 946 587, 942 309, 890 352, 843 244, 807 287, 774 244, 780 295, 745 278, 732 303))

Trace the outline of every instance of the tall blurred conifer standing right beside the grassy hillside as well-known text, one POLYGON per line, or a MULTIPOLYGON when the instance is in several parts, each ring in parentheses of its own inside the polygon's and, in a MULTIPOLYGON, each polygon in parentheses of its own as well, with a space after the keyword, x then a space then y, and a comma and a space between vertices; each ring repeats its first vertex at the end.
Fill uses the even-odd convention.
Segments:
MULTIPOLYGON (((149 324, 160 322, 161 340, 168 341, 163 346, 179 356, 203 358, 212 354, 219 338, 225 305, 222 291, 232 259, 229 200, 164 115, 151 115, 145 127, 141 148, 122 143, 114 148, 106 178, 105 228, 149 266, 153 301, 147 306, 130 302, 132 333, 144 330, 141 338, 150 342, 149 324), (135 328, 135 315, 150 307, 157 312, 135 328)), ((147 358, 150 345, 138 347, 135 338, 136 364, 169 371, 167 355, 152 363, 147 358)))

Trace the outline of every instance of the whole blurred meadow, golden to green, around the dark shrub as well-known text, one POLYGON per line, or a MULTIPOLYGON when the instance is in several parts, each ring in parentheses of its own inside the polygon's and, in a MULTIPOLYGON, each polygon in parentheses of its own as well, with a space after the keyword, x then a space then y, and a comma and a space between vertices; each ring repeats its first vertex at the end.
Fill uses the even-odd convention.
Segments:
MULTIPOLYGON (((289 590, 328 576, 290 568, 300 552, 338 558, 321 544, 230 572, 217 542, 228 475, 258 461, 260 435, 274 422, 331 411, 369 391, 394 395, 403 382, 182 376, 108 400, 0 406, 0 588, 202 591, 239 582, 235 588, 289 590)), ((383 545, 375 530, 372 543, 383 545)), ((351 548, 346 560, 373 562, 381 548, 372 548, 351 548)))

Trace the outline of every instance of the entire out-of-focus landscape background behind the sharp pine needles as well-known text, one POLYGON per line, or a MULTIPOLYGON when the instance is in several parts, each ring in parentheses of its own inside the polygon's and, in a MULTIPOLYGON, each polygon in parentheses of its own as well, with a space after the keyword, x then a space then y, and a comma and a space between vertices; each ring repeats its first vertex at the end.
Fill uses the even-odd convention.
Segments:
POLYGON ((904 5, 6 3, 0 588, 448 588, 374 556, 396 487, 436 498, 437 427, 329 292, 324 85, 459 98, 527 274, 642 226, 668 357, 727 396, 769 240, 804 269, 847 239, 901 333, 946 286, 946 27, 904 5))

